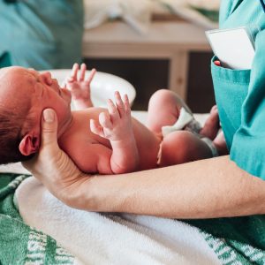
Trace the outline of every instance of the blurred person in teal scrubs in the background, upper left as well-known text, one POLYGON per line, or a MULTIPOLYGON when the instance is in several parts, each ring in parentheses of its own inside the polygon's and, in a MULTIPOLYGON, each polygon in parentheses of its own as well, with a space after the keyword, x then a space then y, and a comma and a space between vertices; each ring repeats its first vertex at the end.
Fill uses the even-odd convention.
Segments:
POLYGON ((71 68, 81 61, 83 1, 0 0, 0 67, 71 68))

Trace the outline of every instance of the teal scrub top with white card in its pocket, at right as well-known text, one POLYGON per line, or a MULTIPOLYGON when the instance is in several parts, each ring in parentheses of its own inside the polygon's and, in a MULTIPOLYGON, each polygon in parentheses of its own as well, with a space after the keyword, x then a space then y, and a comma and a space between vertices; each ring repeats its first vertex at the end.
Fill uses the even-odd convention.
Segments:
POLYGON ((265 179, 265 13, 258 0, 223 0, 219 22, 223 29, 249 27, 254 36, 252 69, 219 67, 214 57, 211 71, 231 160, 265 179))

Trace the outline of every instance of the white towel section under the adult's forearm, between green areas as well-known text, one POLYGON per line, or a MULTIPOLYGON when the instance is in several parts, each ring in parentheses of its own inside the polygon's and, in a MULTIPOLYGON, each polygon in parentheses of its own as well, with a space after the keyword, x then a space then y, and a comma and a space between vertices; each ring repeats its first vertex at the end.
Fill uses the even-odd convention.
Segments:
POLYGON ((201 232, 186 223, 69 208, 35 178, 19 186, 15 200, 27 224, 84 264, 220 264, 201 232))

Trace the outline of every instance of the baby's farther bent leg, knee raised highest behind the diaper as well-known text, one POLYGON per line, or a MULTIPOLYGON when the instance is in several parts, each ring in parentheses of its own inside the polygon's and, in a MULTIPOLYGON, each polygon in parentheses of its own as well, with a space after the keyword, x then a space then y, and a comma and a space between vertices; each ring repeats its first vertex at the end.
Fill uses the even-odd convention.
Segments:
POLYGON ((161 133, 162 126, 174 125, 183 106, 190 111, 176 93, 168 89, 156 91, 148 104, 148 128, 161 133))

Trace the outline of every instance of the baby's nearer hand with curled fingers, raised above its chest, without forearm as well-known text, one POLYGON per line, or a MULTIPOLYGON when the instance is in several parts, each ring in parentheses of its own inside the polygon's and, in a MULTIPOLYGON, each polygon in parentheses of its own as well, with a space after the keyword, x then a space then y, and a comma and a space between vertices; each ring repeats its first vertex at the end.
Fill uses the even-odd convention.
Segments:
POLYGON ((115 92, 116 105, 109 99, 108 112, 99 115, 99 121, 90 120, 90 129, 103 138, 111 141, 127 140, 133 133, 131 108, 128 96, 124 101, 120 94, 115 92))

